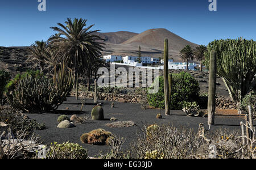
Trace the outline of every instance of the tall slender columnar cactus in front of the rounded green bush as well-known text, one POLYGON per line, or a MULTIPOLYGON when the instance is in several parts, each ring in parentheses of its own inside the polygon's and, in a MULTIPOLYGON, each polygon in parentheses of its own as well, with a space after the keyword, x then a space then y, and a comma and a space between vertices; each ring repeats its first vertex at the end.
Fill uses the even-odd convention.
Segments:
POLYGON ((170 115, 170 94, 168 83, 168 39, 164 40, 164 101, 166 105, 166 115, 170 115))

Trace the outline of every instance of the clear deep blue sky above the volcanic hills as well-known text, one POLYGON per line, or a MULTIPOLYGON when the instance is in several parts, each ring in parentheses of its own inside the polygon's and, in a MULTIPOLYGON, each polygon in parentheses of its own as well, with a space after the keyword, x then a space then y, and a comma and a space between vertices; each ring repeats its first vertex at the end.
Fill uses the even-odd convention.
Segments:
POLYGON ((38 0, 0 1, 0 46, 28 46, 47 40, 49 27, 67 18, 88 19, 91 30, 141 33, 166 28, 196 44, 214 39, 256 40, 256 1, 217 0, 217 11, 209 11, 208 0, 46 0, 39 11, 38 0))

